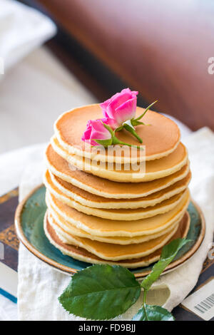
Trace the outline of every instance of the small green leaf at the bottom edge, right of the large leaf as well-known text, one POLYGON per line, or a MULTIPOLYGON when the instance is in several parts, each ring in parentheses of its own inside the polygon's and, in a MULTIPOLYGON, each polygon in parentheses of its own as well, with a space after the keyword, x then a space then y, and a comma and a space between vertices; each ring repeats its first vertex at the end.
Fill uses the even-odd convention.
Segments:
POLYGON ((167 309, 161 306, 145 304, 133 316, 133 321, 175 321, 175 318, 167 309))

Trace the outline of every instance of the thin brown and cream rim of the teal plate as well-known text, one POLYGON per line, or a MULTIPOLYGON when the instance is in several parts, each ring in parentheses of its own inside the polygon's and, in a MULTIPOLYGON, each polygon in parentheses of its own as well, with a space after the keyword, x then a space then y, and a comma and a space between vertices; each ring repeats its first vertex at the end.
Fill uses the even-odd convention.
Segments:
MULTIPOLYGON (((31 192, 28 193, 28 195, 26 195, 26 197, 24 197, 23 200, 21 200, 21 202, 19 203, 19 205, 16 207, 16 212, 15 212, 15 219, 14 219, 14 223, 15 223, 15 228, 16 228, 16 234, 17 237, 19 238, 19 240, 21 241, 22 244, 24 244, 24 246, 26 247, 26 249, 29 250, 29 252, 31 252, 32 254, 34 254, 34 256, 36 256, 37 258, 39 258, 42 262, 45 262, 46 264, 48 264, 51 267, 54 267, 54 269, 63 272, 64 274, 75 274, 81 270, 78 269, 73 269, 72 267, 67 267, 66 265, 60 264, 56 261, 54 261, 53 259, 45 256, 44 254, 42 254, 41 252, 39 252, 39 250, 36 249, 36 247, 34 247, 29 240, 26 238, 26 235, 24 234, 24 230, 21 227, 21 212, 24 209, 24 205, 26 203, 27 200, 29 200, 29 198, 31 197, 31 195, 34 195, 34 193, 39 190, 41 187, 45 187, 45 185, 43 183, 41 183, 40 185, 37 185, 36 187, 34 187, 33 190, 31 190, 31 192)), ((195 242, 195 244, 193 244, 193 247, 190 248, 190 250, 188 250, 188 252, 186 252, 186 254, 183 255, 183 257, 180 257, 179 259, 175 260, 174 262, 170 263, 168 265, 168 267, 165 268, 165 270, 163 271, 163 274, 166 274, 167 272, 171 272, 174 269, 180 267, 181 265, 183 265, 185 262, 188 261, 188 259, 190 259, 190 257, 193 256, 193 254, 195 254, 195 252, 198 250, 198 248, 200 247, 200 244, 203 242, 204 236, 205 236, 205 217, 203 215, 202 210, 200 210, 199 205, 191 198, 190 199, 191 202, 193 202, 193 205, 196 207, 196 209, 198 210, 198 213, 200 215, 201 218, 201 230, 200 230, 200 234, 198 236, 197 241, 195 242)), ((146 272, 137 272, 134 273, 134 276, 138 279, 141 279, 143 277, 146 277, 149 273, 151 272, 151 270, 148 270, 146 272)))

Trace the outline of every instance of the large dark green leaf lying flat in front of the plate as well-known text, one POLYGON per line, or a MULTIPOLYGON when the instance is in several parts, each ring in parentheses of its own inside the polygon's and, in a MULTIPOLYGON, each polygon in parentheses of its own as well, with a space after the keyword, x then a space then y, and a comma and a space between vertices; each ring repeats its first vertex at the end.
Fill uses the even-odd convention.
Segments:
POLYGON ((103 320, 123 314, 140 294, 141 286, 128 269, 96 264, 74 274, 58 300, 69 313, 103 320))

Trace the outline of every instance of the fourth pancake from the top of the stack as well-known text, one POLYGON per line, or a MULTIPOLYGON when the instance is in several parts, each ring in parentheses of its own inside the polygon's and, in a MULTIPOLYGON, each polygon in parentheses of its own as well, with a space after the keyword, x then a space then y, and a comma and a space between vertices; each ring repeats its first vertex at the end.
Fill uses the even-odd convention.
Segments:
MULTIPOLYGON (((98 195, 92 195, 91 193, 81 190, 78 187, 73 186, 72 184, 61 180, 60 178, 53 175, 49 170, 46 170, 44 175, 44 184, 52 193, 57 193, 58 199, 63 202, 63 196, 68 198, 67 202, 64 202, 69 205, 70 201, 76 201, 81 203, 81 205, 87 207, 95 207, 95 208, 106 208, 106 209, 128 209, 128 208, 141 208, 141 207, 149 207, 154 206, 173 195, 177 195, 180 192, 183 192, 185 188, 188 187, 188 183, 190 182, 191 172, 183 178, 182 180, 175 182, 175 184, 165 188, 165 190, 158 191, 153 193, 152 195, 148 195, 147 197, 140 197, 137 199, 114 199, 100 197, 98 195)), ((56 197, 57 197, 56 195, 56 197)), ((71 205, 72 207, 72 205, 71 205)))

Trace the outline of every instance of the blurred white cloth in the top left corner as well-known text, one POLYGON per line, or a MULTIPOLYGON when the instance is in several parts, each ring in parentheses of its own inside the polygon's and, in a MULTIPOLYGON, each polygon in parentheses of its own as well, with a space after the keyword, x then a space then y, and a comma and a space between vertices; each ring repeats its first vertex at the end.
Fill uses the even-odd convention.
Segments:
POLYGON ((5 71, 55 33, 54 22, 36 9, 0 0, 0 61, 5 71))

